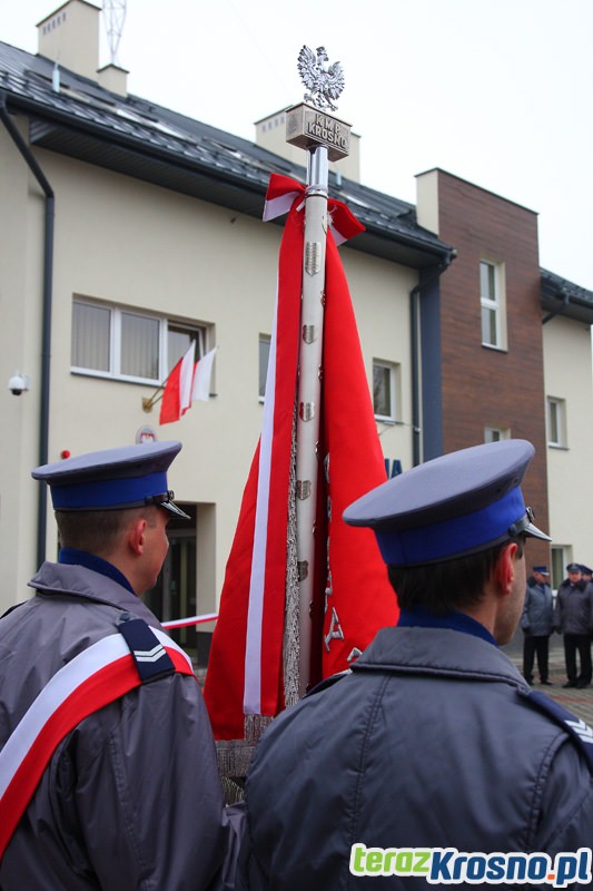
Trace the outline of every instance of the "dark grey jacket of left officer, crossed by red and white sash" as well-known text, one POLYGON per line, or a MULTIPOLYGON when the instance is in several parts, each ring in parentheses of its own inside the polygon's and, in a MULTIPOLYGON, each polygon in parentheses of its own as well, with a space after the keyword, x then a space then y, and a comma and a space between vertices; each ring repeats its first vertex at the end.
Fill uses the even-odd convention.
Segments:
MULTIPOLYGON (((122 585, 43 564, 37 594, 0 620, 0 746, 66 663, 122 610, 160 628, 122 585)), ((134 689, 59 745, 0 864, 2 891, 200 891, 225 884, 236 842, 210 725, 191 676, 134 689)))

